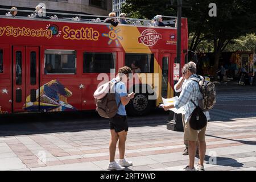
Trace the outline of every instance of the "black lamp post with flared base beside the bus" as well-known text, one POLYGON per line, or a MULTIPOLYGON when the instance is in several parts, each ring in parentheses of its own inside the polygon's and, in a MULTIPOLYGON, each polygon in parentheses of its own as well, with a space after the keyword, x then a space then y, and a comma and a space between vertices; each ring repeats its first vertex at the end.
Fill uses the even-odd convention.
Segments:
MULTIPOLYGON (((170 0, 171 4, 173 5, 174 0, 170 0)), ((180 64, 180 57, 181 57, 181 7, 182 7, 182 0, 177 0, 177 53, 175 63, 180 64)), ((174 81, 174 85, 177 81, 174 81)), ((176 94, 175 94, 176 95, 176 94)), ((173 111, 170 111, 168 122, 167 122, 167 129, 174 130, 174 131, 182 131, 183 130, 183 123, 181 114, 176 114, 173 111)))

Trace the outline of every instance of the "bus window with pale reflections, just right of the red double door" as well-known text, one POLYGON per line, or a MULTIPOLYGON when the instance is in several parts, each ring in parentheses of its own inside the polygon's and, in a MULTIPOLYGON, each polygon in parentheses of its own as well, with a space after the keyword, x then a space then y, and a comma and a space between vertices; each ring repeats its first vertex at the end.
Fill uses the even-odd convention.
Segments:
POLYGON ((44 51, 44 74, 76 74, 76 51, 44 51))

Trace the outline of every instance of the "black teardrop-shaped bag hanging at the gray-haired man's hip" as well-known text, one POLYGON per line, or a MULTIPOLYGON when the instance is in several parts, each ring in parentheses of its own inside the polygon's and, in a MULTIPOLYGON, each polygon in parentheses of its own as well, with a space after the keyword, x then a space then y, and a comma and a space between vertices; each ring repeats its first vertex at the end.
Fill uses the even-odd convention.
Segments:
POLYGON ((196 108, 188 118, 189 126, 194 130, 201 130, 207 125, 207 117, 199 105, 197 106, 192 100, 191 102, 196 106, 196 108))

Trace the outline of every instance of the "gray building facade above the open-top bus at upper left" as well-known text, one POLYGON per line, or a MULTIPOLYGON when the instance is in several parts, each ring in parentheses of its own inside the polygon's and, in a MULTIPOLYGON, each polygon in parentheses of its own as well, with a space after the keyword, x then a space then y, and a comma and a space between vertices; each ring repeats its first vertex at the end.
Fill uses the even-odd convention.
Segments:
POLYGON ((0 7, 35 9, 39 3, 45 3, 47 10, 65 13, 91 14, 107 16, 112 11, 112 0, 1 0, 0 7))

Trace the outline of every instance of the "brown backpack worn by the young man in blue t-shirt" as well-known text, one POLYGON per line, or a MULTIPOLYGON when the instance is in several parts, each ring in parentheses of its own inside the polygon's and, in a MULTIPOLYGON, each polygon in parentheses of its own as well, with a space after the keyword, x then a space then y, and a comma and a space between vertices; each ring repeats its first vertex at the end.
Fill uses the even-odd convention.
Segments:
POLYGON ((119 80, 110 81, 109 84, 109 93, 106 93, 106 95, 100 99, 95 99, 96 101, 96 111, 101 117, 104 118, 113 118, 118 111, 118 108, 121 104, 121 101, 117 105, 117 102, 115 101, 115 84, 119 82, 119 80))

